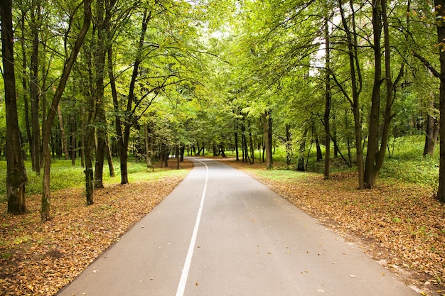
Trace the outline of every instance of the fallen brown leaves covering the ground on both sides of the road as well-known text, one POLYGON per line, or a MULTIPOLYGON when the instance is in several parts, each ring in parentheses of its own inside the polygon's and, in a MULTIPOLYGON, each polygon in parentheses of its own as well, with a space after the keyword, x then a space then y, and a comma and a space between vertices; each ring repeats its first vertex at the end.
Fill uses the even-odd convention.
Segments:
MULTIPOLYGON (((343 172, 270 178, 264 165, 226 160, 314 216, 347 241, 400 275, 422 295, 445 295, 445 206, 431 189, 382 181, 372 190, 357 189, 357 175, 343 172)), ((190 161, 181 168, 192 168, 190 161)), ((171 166, 174 167, 173 165, 171 166)), ((186 171, 187 172, 187 171, 186 171)), ((151 211, 185 177, 95 192, 86 207, 83 190, 52 194, 54 219, 40 220, 40 195, 28 197, 28 214, 0 212, 0 296, 55 295, 132 225, 151 211)))

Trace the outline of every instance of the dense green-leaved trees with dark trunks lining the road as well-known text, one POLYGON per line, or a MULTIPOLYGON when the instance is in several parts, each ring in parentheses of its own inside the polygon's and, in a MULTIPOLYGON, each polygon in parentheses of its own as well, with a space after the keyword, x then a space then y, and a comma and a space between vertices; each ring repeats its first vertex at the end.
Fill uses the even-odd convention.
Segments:
MULTIPOLYGON (((54 158, 80 160, 87 204, 114 156, 126 184, 129 155, 151 168, 205 150, 254 163, 259 150, 272 167, 285 146, 306 170, 313 143, 326 179, 341 158, 372 188, 391 139, 422 134, 424 155, 445 139, 444 4, 1 1, 8 212, 26 212, 23 157, 43 168, 43 221, 54 158)), ((445 202, 445 141, 438 184, 445 202)))

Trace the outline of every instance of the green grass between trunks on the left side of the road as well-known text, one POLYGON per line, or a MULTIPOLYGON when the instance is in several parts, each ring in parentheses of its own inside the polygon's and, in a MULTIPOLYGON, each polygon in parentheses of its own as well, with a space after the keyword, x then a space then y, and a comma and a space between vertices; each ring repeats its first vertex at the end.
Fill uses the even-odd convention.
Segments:
MULTIPOLYGON (((109 177, 107 163, 104 164, 104 184, 115 184, 121 182, 119 159, 113 160, 115 177, 109 177)), ((134 159, 128 161, 129 182, 139 182, 143 180, 161 179, 163 177, 175 176, 181 174, 181 170, 168 170, 166 168, 155 168, 151 172, 146 168, 144 162, 136 163, 134 159)), ((26 194, 41 194, 43 185, 43 170, 41 175, 31 170, 31 160, 25 162, 28 182, 26 183, 26 194)), ((175 167, 176 168, 176 167, 175 167)), ((181 167, 180 167, 181 168, 181 167)), ((85 186, 84 168, 80 167, 80 161, 76 165, 71 165, 71 160, 53 160, 51 163, 50 190, 61 190, 66 188, 80 188, 85 186)), ((6 202, 6 161, 0 160, 0 172, 4 172, 3 179, 0 180, 0 202, 6 202)))

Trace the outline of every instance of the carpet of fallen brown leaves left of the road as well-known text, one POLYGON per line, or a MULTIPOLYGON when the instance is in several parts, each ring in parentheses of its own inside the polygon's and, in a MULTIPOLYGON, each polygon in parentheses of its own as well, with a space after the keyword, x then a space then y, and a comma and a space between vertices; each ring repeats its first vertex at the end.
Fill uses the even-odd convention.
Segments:
POLYGON ((21 216, 6 214, 4 203, 0 296, 55 295, 154 209, 192 167, 185 160, 181 175, 95 190, 95 203, 89 207, 82 189, 53 192, 54 218, 46 223, 40 218, 40 195, 27 197, 28 213, 21 216))

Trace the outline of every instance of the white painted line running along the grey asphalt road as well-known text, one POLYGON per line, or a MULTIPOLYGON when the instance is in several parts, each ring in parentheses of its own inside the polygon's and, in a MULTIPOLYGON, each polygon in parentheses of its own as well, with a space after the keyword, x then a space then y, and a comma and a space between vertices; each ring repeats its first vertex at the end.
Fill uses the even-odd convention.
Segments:
MULTIPOLYGON (((198 160, 200 163, 203 163, 202 161, 198 160)), ((178 290, 176 290, 176 296, 183 296, 184 291, 186 290, 186 284, 187 284, 187 278, 188 278, 188 271, 190 270, 190 265, 192 262, 192 256, 193 256, 193 250, 195 249, 196 244, 196 237, 198 236, 198 228, 201 220, 201 215, 203 214, 203 206, 204 206, 204 199, 205 199, 205 191, 207 190, 207 181, 208 181, 208 166, 205 165, 205 183, 204 183, 204 189, 203 189, 203 196, 201 197, 201 202, 199 205, 198 215, 196 216, 195 221, 195 228, 193 229, 192 238, 190 241, 190 246, 188 246, 188 252, 186 256, 186 262, 184 263, 184 267, 181 273, 181 279, 179 280, 178 290)))

